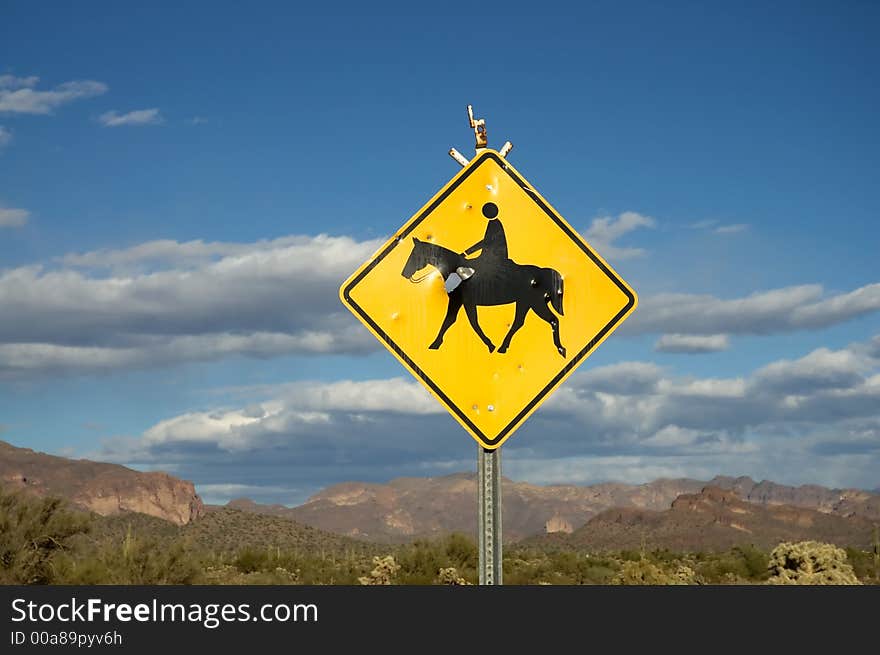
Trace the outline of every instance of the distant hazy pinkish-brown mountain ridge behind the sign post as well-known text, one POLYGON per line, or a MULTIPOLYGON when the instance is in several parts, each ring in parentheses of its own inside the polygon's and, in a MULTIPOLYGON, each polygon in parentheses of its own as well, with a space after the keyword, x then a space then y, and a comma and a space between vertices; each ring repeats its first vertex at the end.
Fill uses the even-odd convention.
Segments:
MULTIPOLYGON (((323 489, 297 507, 259 505, 247 499, 229 507, 286 516, 317 528, 376 541, 400 542, 448 532, 476 531, 476 474, 436 478, 398 478, 387 484, 344 482, 323 489)), ((504 479, 504 538, 574 532, 612 509, 667 510, 682 495, 711 486, 734 492, 762 507, 791 506, 842 518, 880 521, 880 495, 859 489, 818 485, 791 487, 748 477, 718 476, 710 481, 660 479, 640 485, 602 483, 548 485, 504 479)))

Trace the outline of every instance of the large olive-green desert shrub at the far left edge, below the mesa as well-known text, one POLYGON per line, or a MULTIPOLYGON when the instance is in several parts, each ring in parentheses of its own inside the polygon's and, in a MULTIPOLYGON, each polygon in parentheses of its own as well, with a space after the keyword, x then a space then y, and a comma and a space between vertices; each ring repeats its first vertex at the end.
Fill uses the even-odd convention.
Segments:
POLYGON ((0 583, 50 584, 59 556, 89 531, 89 517, 59 498, 30 498, 0 489, 0 583))

